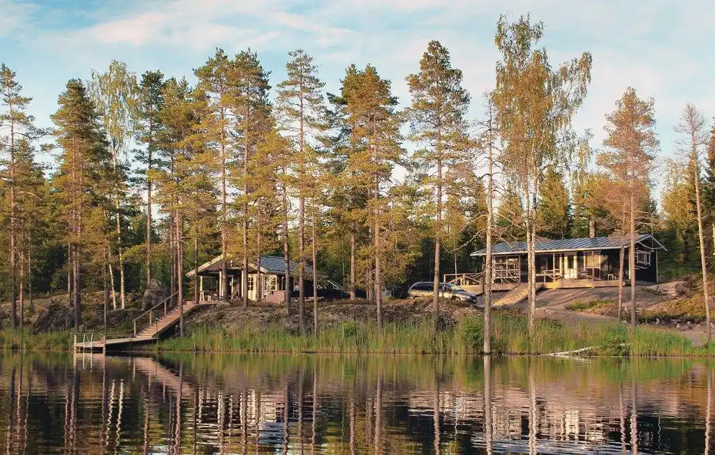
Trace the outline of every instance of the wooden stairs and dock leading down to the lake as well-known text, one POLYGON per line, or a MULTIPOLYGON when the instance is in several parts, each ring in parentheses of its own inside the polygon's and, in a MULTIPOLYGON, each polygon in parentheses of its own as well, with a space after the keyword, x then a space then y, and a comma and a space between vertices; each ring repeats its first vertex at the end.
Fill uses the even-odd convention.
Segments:
MULTIPOLYGON (((194 304, 193 301, 187 301, 184 303, 184 316, 191 313, 194 309, 202 306, 212 306, 220 303, 219 301, 201 301, 198 304, 194 304)), ((107 351, 109 349, 131 349, 132 346, 137 344, 146 344, 152 341, 157 341, 161 338, 162 334, 167 330, 171 329, 173 326, 179 323, 181 319, 181 310, 179 308, 172 309, 165 316, 157 319, 152 325, 147 326, 142 331, 139 331, 136 336, 126 336, 122 338, 110 338, 105 339, 103 335, 84 335, 82 341, 77 341, 77 335, 75 335, 74 347, 75 351, 107 351)))

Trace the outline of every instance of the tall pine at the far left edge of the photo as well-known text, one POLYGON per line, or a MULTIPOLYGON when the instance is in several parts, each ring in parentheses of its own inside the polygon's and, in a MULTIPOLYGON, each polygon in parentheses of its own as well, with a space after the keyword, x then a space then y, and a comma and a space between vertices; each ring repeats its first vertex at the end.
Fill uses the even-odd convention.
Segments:
MULTIPOLYGON (((34 117, 27 113, 27 108, 31 98, 22 96, 22 86, 16 79, 17 74, 9 66, 0 66, 0 164, 5 168, 7 181, 9 182, 8 202, 10 219, 10 241, 9 241, 9 262, 10 262, 10 303, 11 321, 13 329, 18 326, 17 320, 17 280, 18 264, 20 256, 19 249, 19 225, 18 225, 18 194, 19 194, 19 164, 18 155, 21 139, 32 141, 39 136, 40 131, 34 126, 34 117)), ((27 143, 24 143, 25 146, 27 143)), ((22 323, 22 321, 20 321, 22 323)))

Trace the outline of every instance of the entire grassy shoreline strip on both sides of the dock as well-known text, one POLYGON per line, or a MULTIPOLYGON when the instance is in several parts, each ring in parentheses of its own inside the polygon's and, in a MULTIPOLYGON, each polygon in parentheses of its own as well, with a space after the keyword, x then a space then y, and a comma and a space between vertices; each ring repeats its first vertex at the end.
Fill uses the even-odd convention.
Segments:
MULTIPOLYGON (((493 322, 492 354, 495 356, 715 356, 715 346, 696 346, 686 336, 648 326, 636 327, 633 336, 630 326, 617 322, 568 324, 556 319, 539 319, 536 335, 529 339, 526 316, 496 313, 493 322), (568 355, 576 354, 578 350, 584 352, 568 355)), ((28 329, 2 330, 0 349, 71 352, 73 336, 73 331, 33 334, 28 329)), ((382 332, 370 322, 347 321, 326 327, 317 337, 296 334, 278 326, 261 329, 191 325, 183 339, 162 339, 149 342, 143 348, 137 346, 117 352, 463 356, 483 355, 482 345, 483 319, 470 315, 451 324, 448 321, 436 333, 433 333, 431 321, 425 320, 391 322, 385 324, 382 332)))

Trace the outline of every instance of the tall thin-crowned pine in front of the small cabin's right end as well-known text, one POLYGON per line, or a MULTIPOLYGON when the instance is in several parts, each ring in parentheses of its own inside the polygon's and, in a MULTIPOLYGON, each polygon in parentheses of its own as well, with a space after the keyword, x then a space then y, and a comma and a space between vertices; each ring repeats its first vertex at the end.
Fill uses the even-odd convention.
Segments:
MULTIPOLYGON (((325 106, 315 59, 298 49, 288 54, 287 79, 277 86, 276 113, 280 128, 294 141, 294 184, 298 196, 298 311, 305 330, 305 200, 315 184, 308 169, 317 162, 317 141, 325 130, 325 106)), ((313 296, 315 300, 316 296, 313 296)))

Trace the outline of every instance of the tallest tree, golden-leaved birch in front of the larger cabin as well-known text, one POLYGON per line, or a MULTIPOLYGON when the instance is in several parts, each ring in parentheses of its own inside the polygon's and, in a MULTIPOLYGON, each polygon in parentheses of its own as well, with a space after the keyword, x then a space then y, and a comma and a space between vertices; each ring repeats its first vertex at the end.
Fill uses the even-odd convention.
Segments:
POLYGON ((571 118, 591 81, 591 54, 584 52, 553 68, 546 49, 536 48, 542 37, 543 23, 532 24, 528 15, 513 24, 501 16, 494 39, 501 54, 494 104, 506 142, 503 161, 525 204, 530 336, 536 323, 535 221, 543 171, 559 161, 560 141, 568 137, 571 118))

